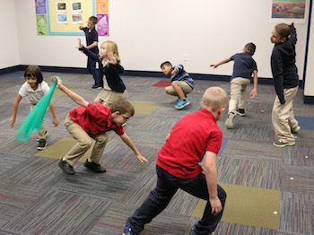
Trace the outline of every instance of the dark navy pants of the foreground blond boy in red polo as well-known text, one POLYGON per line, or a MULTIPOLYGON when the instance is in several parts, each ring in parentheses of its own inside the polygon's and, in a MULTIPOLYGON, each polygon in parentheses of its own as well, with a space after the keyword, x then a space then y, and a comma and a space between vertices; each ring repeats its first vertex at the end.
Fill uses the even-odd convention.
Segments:
MULTIPOLYGON (((199 174, 196 178, 177 178, 161 167, 156 166, 157 171, 157 186, 153 189, 150 195, 145 199, 144 203, 136 209, 135 213, 127 218, 126 225, 136 233, 144 230, 144 224, 149 223, 155 216, 163 211, 170 203, 172 196, 179 188, 189 194, 205 199, 207 205, 203 217, 197 222, 195 231, 199 235, 208 234, 215 230, 218 222, 222 219, 222 212, 212 214, 212 207, 209 203, 208 189, 205 179, 205 174, 199 174)), ((222 211, 226 200, 226 193, 222 187, 218 187, 218 197, 222 202, 222 211)))

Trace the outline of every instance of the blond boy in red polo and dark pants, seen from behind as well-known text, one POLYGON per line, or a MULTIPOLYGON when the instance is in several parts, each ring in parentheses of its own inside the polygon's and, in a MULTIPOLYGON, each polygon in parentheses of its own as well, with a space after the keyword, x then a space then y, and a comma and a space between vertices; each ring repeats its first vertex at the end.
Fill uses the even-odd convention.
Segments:
MULTIPOLYGON (((222 145, 222 131, 216 121, 228 104, 228 95, 219 87, 205 91, 201 110, 179 119, 158 152, 157 186, 135 213, 127 218, 125 235, 138 234, 170 203, 179 188, 207 201, 203 218, 192 235, 214 234, 226 200, 217 185, 216 155, 222 145), (203 169, 198 164, 203 161, 203 169)), ((182 231, 182 234, 184 232, 182 231)))

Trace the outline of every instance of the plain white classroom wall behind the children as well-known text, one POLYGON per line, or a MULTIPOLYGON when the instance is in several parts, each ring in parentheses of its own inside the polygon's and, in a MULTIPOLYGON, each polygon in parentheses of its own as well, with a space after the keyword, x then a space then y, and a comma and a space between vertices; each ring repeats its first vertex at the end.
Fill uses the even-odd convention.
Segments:
MULTIPOLYGON (((11 15, 15 3, 20 48, 20 61, 15 64, 85 67, 86 57, 75 48, 77 36, 37 36, 33 0, 0 1, 3 11, 8 8, 11 15)), ((231 75, 232 63, 216 69, 209 65, 240 52, 252 41, 257 45, 258 76, 271 77, 274 45, 269 37, 277 22, 269 20, 270 7, 271 0, 109 0, 110 37, 100 37, 100 43, 108 39, 118 43, 126 70, 160 71, 161 62, 170 60, 185 65, 189 73, 231 75), (188 61, 183 61, 183 54, 188 61)), ((306 26, 296 24, 300 75, 306 26)))

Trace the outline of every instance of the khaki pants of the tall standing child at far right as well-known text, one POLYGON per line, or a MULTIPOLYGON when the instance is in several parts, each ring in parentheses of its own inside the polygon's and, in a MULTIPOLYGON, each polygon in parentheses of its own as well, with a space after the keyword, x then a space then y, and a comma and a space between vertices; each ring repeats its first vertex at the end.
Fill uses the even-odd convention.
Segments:
POLYGON ((285 105, 282 105, 276 96, 272 114, 275 135, 290 144, 295 143, 291 129, 298 126, 298 121, 294 118, 293 113, 293 99, 297 91, 298 86, 283 90, 285 105))

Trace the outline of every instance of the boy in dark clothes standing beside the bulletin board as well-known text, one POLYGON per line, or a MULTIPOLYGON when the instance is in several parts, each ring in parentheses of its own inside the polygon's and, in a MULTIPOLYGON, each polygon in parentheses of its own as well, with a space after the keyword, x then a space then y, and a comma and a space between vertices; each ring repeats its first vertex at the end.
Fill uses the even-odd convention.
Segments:
MULTIPOLYGON (((98 22, 97 17, 91 16, 88 19, 87 26, 83 27, 83 25, 80 25, 80 30, 83 30, 86 37, 86 44, 88 49, 90 49, 93 53, 98 54, 98 33, 95 30, 95 25, 98 22)), ((87 70, 90 74, 92 74, 92 77, 95 81, 94 85, 91 87, 92 89, 101 88, 101 83, 99 79, 98 71, 96 70, 96 61, 92 60, 92 58, 87 58, 87 70)))

